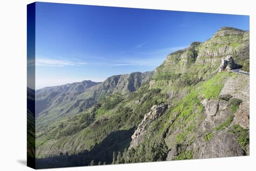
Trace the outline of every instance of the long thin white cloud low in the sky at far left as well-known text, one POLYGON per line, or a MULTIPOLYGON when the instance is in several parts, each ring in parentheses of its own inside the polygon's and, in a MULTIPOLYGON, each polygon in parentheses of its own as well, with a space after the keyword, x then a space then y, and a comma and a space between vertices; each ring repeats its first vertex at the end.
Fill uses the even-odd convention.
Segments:
POLYGON ((53 67, 62 67, 62 66, 82 66, 88 64, 87 62, 78 60, 78 59, 50 59, 38 57, 36 60, 30 59, 27 60, 27 66, 53 66, 53 67))

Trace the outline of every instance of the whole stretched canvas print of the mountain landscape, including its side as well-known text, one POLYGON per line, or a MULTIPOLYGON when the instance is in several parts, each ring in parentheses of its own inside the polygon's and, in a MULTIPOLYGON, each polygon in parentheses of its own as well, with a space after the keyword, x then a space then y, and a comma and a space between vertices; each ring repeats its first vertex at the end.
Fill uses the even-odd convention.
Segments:
MULTIPOLYGON (((248 29, 249 16, 243 15, 43 2, 27 5, 27 166, 40 169, 249 155, 248 29), (92 59, 89 60, 89 57, 84 57, 90 62, 84 61, 83 57, 80 59, 71 56, 65 59, 41 57, 37 49, 39 52, 44 48, 44 51, 54 52, 53 49, 42 46, 43 43, 47 44, 47 39, 43 38, 44 36, 48 38, 48 35, 45 34, 44 28, 40 27, 41 22, 54 24, 61 20, 63 24, 63 20, 67 19, 69 22, 74 20, 74 23, 65 25, 64 29, 61 25, 58 32, 56 32, 58 26, 54 25, 52 37, 58 42, 65 37, 66 39, 62 41, 63 45, 67 43, 70 49, 76 49, 72 46, 72 44, 78 45, 73 37, 70 35, 57 37, 56 34, 66 33, 65 28, 77 24, 76 18, 72 18, 77 15, 70 13, 70 16, 63 18, 53 15, 54 20, 39 17, 43 16, 44 10, 51 9, 51 12, 56 12, 54 14, 58 15, 58 12, 65 12, 71 8, 74 13, 79 13, 78 16, 82 19, 91 19, 91 24, 97 27, 90 30, 90 26, 87 25, 88 28, 85 29, 92 32, 91 36, 97 34, 106 36, 94 38, 105 42, 106 46, 112 48, 112 52, 119 52, 118 48, 121 48, 117 41, 119 45, 124 41, 131 41, 133 34, 136 34, 135 24, 138 28, 144 28, 142 32, 147 32, 148 36, 153 33, 162 36, 157 32, 161 29, 158 26, 154 27, 152 23, 156 21, 168 23, 169 19, 166 16, 175 21, 169 23, 169 26, 183 29, 180 34, 191 32, 194 28, 191 25, 183 26, 184 23, 175 20, 175 18, 186 20, 182 16, 185 13, 186 16, 193 15, 191 20, 198 17, 195 20, 198 23, 195 25, 205 23, 205 28, 201 28, 202 35, 204 32, 205 34, 210 32, 209 20, 218 23, 214 20, 218 19, 219 22, 227 25, 214 30, 207 39, 202 38, 202 35, 194 29, 195 35, 191 37, 196 38, 193 40, 195 42, 191 41, 190 45, 185 47, 180 45, 170 48, 158 47, 155 51, 142 52, 140 50, 146 45, 152 46, 151 42, 134 42, 132 49, 127 48, 126 52, 119 52, 120 60, 119 58, 114 60, 109 55, 102 57, 103 59, 90 57, 92 59), (88 11, 86 15, 83 13, 85 11, 88 11), (119 17, 111 20, 108 16, 114 16, 113 11, 115 16, 119 15, 119 17), (134 22, 130 27, 121 25, 120 28, 115 27, 118 26, 115 25, 116 22, 125 23, 122 17, 127 22, 133 23, 132 17, 135 20, 142 14, 145 15, 146 21, 134 22), (219 18, 220 16, 223 18, 219 18), (148 21, 147 18, 155 21, 148 21), (231 23, 228 19, 237 22, 231 23), (97 20, 101 20, 101 23, 97 23, 97 20), (108 23, 103 20, 108 20, 108 23), (143 26, 144 22, 150 27, 143 26), (238 28, 235 28, 236 26, 238 28), (115 30, 120 37, 123 37, 124 33, 127 34, 127 39, 118 40, 118 36, 112 39, 108 34, 115 32, 111 30, 115 30), (103 31, 106 33, 102 34, 103 31), (113 46, 109 46, 112 43, 113 46), (163 60, 158 56, 153 57, 154 54, 159 55, 160 51, 166 53, 163 60), (126 56, 128 59, 123 60, 124 53, 131 58, 126 56), (138 56, 133 58, 135 54, 148 55, 150 58, 143 60, 138 56), (159 65, 155 66, 159 61, 159 65), (76 70, 75 68, 81 69, 91 63, 94 63, 96 68, 91 70, 95 75, 105 76, 106 73, 102 72, 104 71, 102 68, 109 67, 108 77, 101 81, 72 82, 73 79, 70 79, 70 82, 63 85, 42 84, 44 81, 47 82, 47 79, 42 79, 41 75, 47 72, 49 67, 56 67, 56 73, 52 72, 53 76, 57 72, 59 74, 63 72, 62 75, 65 76, 73 71, 70 68, 67 68, 67 72, 60 71, 61 67, 65 70, 65 67, 72 66, 72 70, 76 70), (153 66, 154 71, 141 69, 153 66), (117 70, 114 67, 121 69, 117 70), (138 68, 139 71, 129 72, 134 68, 138 68), (113 71, 116 73, 110 74, 113 71)), ((69 33, 71 32, 83 33, 80 29, 71 30, 69 33)), ((171 27, 170 32, 172 32, 171 27)), ((77 36, 77 41, 83 42, 80 39, 82 34, 81 37, 77 34, 71 35, 77 36)), ((171 39, 174 35, 172 32, 171 35, 166 36, 171 39)), ((154 36, 151 37, 151 41, 155 39, 158 41, 157 36, 155 39, 154 36)), ((190 39, 183 38, 182 34, 180 37, 184 41, 190 39)), ((87 37, 83 38, 87 39, 87 37)), ((178 44, 179 40, 174 39, 172 42, 175 44, 175 41, 178 44)), ((96 41, 94 45, 103 47, 96 41)), ((88 47, 82 49, 93 49, 94 45, 88 44, 88 47)), ((63 51, 66 52, 67 49, 64 48, 66 47, 63 47, 63 51)), ((150 48, 154 49, 154 47, 150 48)), ((103 51, 98 49, 95 52, 101 50, 103 51)), ((49 71, 54 71, 52 69, 50 68, 49 71)), ((58 76, 60 75, 56 75, 56 80, 58 76)))

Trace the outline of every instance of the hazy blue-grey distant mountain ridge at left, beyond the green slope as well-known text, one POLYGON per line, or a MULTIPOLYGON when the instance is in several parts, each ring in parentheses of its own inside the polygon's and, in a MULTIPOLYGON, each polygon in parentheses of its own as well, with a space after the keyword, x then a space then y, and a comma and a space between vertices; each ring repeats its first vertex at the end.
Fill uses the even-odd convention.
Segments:
POLYGON ((82 112, 111 93, 134 92, 148 82, 153 74, 154 71, 132 72, 111 76, 101 83, 83 81, 40 89, 36 91, 38 124, 53 121, 61 115, 67 116, 82 112), (81 85, 85 85, 84 91, 76 91, 81 85), (89 85, 91 86, 88 87, 89 85), (63 92, 65 89, 68 92, 63 92), (51 120, 45 120, 45 117, 51 118, 51 120))

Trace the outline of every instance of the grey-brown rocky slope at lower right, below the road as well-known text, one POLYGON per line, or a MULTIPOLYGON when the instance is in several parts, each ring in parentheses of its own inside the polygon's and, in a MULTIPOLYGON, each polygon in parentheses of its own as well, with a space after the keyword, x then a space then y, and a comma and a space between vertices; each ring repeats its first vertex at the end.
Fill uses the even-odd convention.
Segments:
MULTIPOLYGON (((201 103, 204 106, 204 120, 198 120, 195 140, 191 145, 188 142, 174 143, 167 160, 177 158, 182 150, 190 151, 193 154, 191 158, 248 155, 249 141, 246 139, 249 136, 249 77, 239 74, 226 78, 218 98, 203 99, 201 103)), ((174 134, 179 134, 178 132, 174 134)))

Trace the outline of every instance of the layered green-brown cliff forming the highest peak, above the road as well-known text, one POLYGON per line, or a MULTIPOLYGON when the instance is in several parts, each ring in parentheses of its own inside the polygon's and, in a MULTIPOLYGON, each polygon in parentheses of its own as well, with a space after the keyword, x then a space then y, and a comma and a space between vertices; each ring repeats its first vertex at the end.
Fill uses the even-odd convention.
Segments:
POLYGON ((211 78, 224 68, 246 70, 248 45, 249 32, 223 27, 205 42, 193 42, 186 49, 170 53, 156 68, 149 89, 162 87, 170 100, 182 99, 189 92, 189 86, 211 78))

